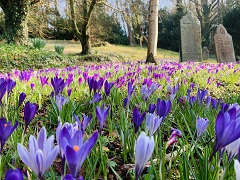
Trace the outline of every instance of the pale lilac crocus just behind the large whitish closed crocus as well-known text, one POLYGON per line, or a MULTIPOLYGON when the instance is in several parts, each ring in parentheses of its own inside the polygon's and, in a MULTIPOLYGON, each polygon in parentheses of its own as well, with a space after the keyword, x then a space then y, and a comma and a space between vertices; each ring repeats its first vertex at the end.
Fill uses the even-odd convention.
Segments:
POLYGON ((149 131, 149 136, 152 136, 162 123, 162 117, 147 113, 146 117, 146 132, 149 131))

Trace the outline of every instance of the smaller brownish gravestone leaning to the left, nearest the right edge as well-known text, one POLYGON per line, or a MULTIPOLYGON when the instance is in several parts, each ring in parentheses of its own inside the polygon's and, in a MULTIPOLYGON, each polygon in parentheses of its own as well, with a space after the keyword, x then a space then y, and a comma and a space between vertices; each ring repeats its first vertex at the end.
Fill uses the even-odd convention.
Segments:
POLYGON ((236 62, 232 36, 222 24, 217 27, 217 34, 214 36, 217 61, 219 63, 236 62))

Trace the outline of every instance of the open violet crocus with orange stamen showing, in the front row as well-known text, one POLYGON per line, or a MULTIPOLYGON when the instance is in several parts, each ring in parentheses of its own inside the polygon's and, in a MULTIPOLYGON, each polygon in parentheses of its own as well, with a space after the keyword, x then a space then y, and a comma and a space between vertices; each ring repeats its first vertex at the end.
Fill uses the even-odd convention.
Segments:
POLYGON ((98 139, 98 132, 94 132, 93 135, 83 143, 82 133, 77 131, 72 139, 72 143, 66 146, 65 156, 68 163, 70 173, 77 178, 80 168, 96 144, 98 139))

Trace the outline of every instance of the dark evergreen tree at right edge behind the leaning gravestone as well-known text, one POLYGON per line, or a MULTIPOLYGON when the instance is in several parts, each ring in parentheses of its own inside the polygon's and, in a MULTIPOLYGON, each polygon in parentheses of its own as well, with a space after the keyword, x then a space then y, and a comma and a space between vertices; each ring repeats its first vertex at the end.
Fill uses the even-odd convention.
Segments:
POLYGON ((240 6, 231 9, 225 14, 223 25, 232 36, 235 54, 240 56, 240 6))

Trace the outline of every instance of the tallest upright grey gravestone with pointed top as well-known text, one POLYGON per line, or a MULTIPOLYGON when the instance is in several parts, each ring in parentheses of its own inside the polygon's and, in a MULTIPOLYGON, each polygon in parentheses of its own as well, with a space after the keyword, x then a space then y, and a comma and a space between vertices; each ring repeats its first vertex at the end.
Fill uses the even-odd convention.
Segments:
POLYGON ((202 61, 202 40, 200 21, 191 11, 180 20, 181 62, 202 61))

